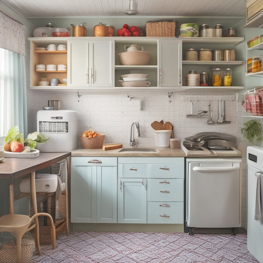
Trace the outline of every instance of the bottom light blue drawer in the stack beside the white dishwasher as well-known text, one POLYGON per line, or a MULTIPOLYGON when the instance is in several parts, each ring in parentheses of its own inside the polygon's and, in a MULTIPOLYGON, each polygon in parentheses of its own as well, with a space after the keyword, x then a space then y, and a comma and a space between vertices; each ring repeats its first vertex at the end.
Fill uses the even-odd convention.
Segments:
POLYGON ((184 224, 184 202, 147 202, 148 224, 184 224))

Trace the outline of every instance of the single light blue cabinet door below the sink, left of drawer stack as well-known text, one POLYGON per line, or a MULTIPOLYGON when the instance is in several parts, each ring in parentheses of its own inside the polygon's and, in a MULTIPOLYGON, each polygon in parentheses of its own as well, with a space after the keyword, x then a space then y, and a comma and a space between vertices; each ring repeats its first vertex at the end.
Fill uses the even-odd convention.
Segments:
POLYGON ((118 223, 147 223, 147 179, 118 178, 118 223))

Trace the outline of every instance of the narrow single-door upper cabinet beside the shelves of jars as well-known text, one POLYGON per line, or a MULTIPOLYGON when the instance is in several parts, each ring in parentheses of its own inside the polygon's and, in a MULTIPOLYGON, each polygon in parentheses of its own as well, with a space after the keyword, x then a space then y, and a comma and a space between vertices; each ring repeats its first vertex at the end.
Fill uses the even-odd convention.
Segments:
POLYGON ((158 41, 158 86, 182 86, 182 41, 158 41))

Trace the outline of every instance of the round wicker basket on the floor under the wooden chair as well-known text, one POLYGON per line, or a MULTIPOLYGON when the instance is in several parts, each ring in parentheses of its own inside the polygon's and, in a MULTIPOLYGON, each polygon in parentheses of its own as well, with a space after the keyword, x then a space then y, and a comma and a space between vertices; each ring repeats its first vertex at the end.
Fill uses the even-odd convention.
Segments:
MULTIPOLYGON (((31 262, 31 258, 36 250, 35 240, 31 233, 26 233, 21 244, 21 263, 31 262)), ((0 263, 16 262, 16 241, 6 243, 0 249, 0 263)))

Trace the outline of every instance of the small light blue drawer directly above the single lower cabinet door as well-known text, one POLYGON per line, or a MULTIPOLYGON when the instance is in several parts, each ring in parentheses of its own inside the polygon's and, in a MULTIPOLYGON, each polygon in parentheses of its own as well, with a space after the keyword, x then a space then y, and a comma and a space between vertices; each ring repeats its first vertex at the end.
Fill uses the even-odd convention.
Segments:
POLYGON ((118 164, 119 178, 146 178, 147 164, 142 163, 121 163, 118 164))

